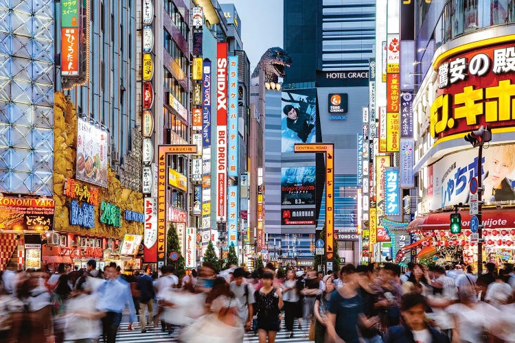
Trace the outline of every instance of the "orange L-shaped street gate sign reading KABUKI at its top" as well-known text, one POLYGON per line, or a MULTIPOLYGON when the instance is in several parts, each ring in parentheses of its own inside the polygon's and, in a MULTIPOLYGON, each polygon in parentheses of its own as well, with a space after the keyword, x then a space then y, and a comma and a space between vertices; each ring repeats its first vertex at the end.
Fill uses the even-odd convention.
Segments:
POLYGON ((166 156, 196 154, 196 145, 159 145, 157 167, 157 261, 165 262, 166 243, 166 156))

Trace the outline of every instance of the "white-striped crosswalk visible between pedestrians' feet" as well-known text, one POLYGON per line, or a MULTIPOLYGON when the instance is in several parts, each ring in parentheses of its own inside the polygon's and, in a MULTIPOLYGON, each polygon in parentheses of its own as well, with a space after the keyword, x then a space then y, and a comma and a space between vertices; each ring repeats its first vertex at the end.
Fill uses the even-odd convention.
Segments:
MULTIPOLYGON (((297 324, 297 322, 295 322, 297 324)), ((132 343, 143 343, 143 342, 178 342, 176 340, 176 333, 172 333, 172 335, 168 335, 168 332, 161 331, 161 328, 155 328, 151 330, 147 330, 146 333, 141 333, 139 328, 139 324, 133 324, 133 329, 128 330, 128 323, 122 323, 119 327, 119 331, 116 335, 116 342, 132 342, 132 343)), ((282 326, 283 327, 283 326, 282 326)), ((303 343, 310 342, 308 340, 308 331, 309 324, 308 322, 302 323, 302 329, 298 329, 297 327, 293 331, 293 338, 290 338, 290 332, 281 329, 277 333, 277 338, 275 342, 290 342, 290 343, 303 343)), ((69 341, 65 341, 69 342, 69 341)), ((100 339, 102 342, 102 339, 100 339)), ((253 332, 245 333, 243 342, 246 343, 258 343, 258 335, 254 335, 253 332)))

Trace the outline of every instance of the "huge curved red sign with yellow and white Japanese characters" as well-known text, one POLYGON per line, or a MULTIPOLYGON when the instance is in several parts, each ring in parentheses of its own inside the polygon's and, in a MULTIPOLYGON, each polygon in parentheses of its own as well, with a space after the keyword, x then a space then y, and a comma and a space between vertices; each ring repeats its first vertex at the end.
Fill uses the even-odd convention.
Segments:
POLYGON ((494 133, 513 132, 513 39, 490 39, 499 41, 495 45, 474 42, 474 49, 457 47, 436 58, 433 67, 438 72, 439 89, 431 104, 430 122, 434 138, 463 139, 460 133, 480 125, 493 128, 494 133))

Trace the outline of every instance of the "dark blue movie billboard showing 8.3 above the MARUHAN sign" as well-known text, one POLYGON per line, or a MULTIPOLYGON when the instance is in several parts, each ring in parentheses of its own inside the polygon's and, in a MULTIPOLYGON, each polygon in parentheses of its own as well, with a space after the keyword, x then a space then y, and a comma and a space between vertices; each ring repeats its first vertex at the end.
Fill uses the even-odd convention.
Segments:
POLYGON ((314 205, 315 167, 281 168, 281 204, 314 205))

